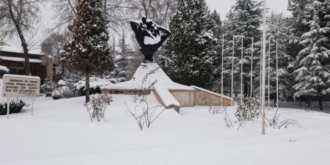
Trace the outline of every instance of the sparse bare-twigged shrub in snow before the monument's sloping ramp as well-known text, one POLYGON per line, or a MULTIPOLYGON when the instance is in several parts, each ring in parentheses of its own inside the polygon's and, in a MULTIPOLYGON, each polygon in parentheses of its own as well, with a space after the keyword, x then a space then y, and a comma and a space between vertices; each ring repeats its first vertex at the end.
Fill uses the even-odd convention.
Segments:
POLYGON ((142 130, 143 126, 149 128, 152 123, 164 112, 166 108, 163 110, 159 110, 161 105, 156 105, 150 107, 146 101, 142 101, 145 106, 142 106, 141 109, 138 109, 138 105, 134 106, 134 110, 131 110, 130 107, 126 104, 127 110, 125 111, 126 116, 133 117, 136 120, 137 126, 142 130))

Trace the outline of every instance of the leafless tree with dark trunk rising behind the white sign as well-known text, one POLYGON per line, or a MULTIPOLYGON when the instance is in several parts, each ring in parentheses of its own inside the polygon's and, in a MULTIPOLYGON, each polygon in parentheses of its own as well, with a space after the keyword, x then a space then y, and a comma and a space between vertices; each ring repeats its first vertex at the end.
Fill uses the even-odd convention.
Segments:
POLYGON ((1 37, 12 37, 18 34, 23 47, 26 75, 31 75, 26 35, 38 30, 34 28, 34 25, 39 22, 40 3, 42 0, 0 0, 1 37))

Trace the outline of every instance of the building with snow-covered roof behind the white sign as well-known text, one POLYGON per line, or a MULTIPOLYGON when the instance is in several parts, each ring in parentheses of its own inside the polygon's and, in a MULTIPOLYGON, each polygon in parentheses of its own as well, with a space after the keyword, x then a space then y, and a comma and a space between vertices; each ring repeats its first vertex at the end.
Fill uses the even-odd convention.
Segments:
MULTIPOLYGON (((40 77, 40 84, 43 84, 47 76, 55 79, 56 75, 57 65, 53 64, 52 59, 48 59, 48 63, 44 59, 47 58, 43 53, 38 53, 37 50, 29 51, 31 75, 40 77)), ((6 66, 9 74, 25 75, 22 48, 0 42, 0 65, 6 66)))

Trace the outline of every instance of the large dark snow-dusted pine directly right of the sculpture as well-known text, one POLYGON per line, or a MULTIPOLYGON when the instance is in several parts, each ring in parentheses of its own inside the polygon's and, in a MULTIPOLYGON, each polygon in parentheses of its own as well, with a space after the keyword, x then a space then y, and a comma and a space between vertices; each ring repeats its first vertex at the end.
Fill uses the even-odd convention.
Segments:
POLYGON ((180 0, 160 64, 177 83, 211 89, 216 38, 205 0, 180 0))

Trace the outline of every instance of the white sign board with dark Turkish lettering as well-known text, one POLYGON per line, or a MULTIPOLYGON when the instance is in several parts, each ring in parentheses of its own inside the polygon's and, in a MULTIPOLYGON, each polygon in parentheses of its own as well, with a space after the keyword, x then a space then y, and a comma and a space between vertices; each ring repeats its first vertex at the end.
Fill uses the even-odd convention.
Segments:
POLYGON ((3 97, 39 97, 40 77, 4 74, 2 80, 3 97))

